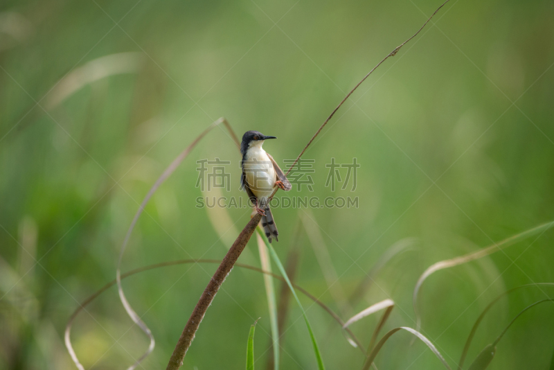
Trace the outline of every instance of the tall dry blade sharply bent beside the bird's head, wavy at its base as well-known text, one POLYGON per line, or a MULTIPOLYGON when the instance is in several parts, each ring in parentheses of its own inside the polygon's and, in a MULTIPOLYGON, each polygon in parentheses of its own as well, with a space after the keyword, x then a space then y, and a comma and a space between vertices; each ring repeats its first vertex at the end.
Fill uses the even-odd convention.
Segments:
MULTIPOLYGON (((154 195, 154 193, 158 190, 158 188, 161 186, 161 184, 163 184, 163 182, 165 182, 166 179, 168 179, 168 177, 170 177, 172 175, 172 173, 177 169, 177 167, 179 167, 179 164, 181 164, 181 162, 188 156, 190 151, 195 148, 197 143, 199 143, 199 141, 202 140, 202 138, 204 136, 206 136, 206 134, 208 132, 210 132, 214 127, 217 127, 218 125, 220 125, 222 123, 224 125, 226 125, 226 127, 229 129, 229 131, 233 135, 234 139, 238 140, 238 139, 236 139, 236 136, 235 136, 233 130, 231 130, 231 125, 229 125, 229 123, 227 122, 227 120, 225 118, 222 117, 222 118, 218 119, 217 121, 215 121, 214 123, 212 123, 211 125, 209 125, 208 128, 206 128, 206 130, 204 130, 204 132, 202 132, 202 134, 199 134, 199 136, 197 136, 197 138, 195 139, 195 141, 193 141, 193 143, 190 143, 190 145, 185 150, 183 150, 181 152, 181 154, 179 154, 177 156, 177 158, 175 158, 171 162, 171 164, 168 166, 168 168, 166 168, 166 170, 163 171, 161 176, 154 183, 152 188, 150 188, 150 191, 148 191, 148 194, 146 194, 146 196, 144 197, 143 202, 141 203, 141 206, 139 207, 139 210, 136 211, 136 213, 134 215, 134 218, 131 222, 131 225, 129 226, 129 229, 127 230, 127 234, 125 235, 125 239, 123 240, 123 245, 121 245, 121 249, 120 249, 120 252, 119 252, 119 260, 118 260, 118 263, 117 263, 117 271, 116 271, 116 281, 117 281, 117 286, 118 286, 119 299, 120 299, 121 303, 123 304, 123 307, 125 308, 125 311, 127 312, 127 315, 129 315, 129 317, 131 317, 134 324, 139 326, 139 328, 141 328, 141 330, 146 335, 148 335, 148 338, 150 339, 150 345, 148 346, 148 349, 145 351, 145 353, 143 355, 141 355, 139 360, 136 360, 136 362, 131 367, 128 368, 128 370, 135 369, 142 362, 142 360, 144 360, 146 358, 146 356, 150 355, 150 353, 154 350, 154 346, 156 345, 156 343, 154 341, 154 336, 152 335, 152 332, 150 331, 150 328, 148 328, 148 326, 144 323, 144 321, 142 321, 141 317, 139 317, 139 315, 137 315, 136 312, 134 312, 131 304, 129 303, 129 301, 127 301, 127 297, 125 297, 125 294, 123 293, 123 287, 121 286, 120 266, 121 266, 121 261, 123 260, 123 254, 125 253, 125 248, 127 247, 127 243, 129 243, 129 238, 131 237, 131 234, 132 234, 132 231, 133 231, 133 229, 136 225, 136 222, 139 220, 139 217, 143 213, 143 210, 144 210, 146 204, 148 203, 148 201, 150 200, 150 198, 152 197, 152 195, 154 195)), ((236 142, 238 142, 238 141, 236 141, 236 142)))

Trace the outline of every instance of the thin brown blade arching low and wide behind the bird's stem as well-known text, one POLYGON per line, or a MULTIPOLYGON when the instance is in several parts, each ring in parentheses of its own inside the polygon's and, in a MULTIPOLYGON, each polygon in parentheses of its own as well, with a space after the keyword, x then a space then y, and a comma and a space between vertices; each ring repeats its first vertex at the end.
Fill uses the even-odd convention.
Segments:
MULTIPOLYGON (((220 263, 220 262, 221 261, 219 261, 219 260, 213 260, 213 259, 199 259, 199 260, 187 259, 187 260, 155 263, 154 265, 143 266, 143 267, 139 267, 137 269, 131 270, 129 272, 125 272, 124 274, 121 274, 121 279, 125 279, 125 278, 127 278, 129 276, 132 276, 134 274, 139 274, 141 272, 145 272, 145 271, 148 271, 148 270, 154 270, 154 269, 157 269, 159 267, 177 266, 177 265, 184 265, 184 264, 187 264, 187 263, 220 263)), ((255 271, 255 272, 260 272, 261 274, 267 274, 269 276, 272 276, 274 279, 278 279, 278 280, 283 281, 283 282, 286 283, 285 279, 282 276, 274 274, 273 272, 264 271, 264 270, 260 269, 259 267, 251 266, 251 265, 245 265, 244 263, 235 263, 235 266, 245 268, 247 270, 252 270, 252 271, 255 271)), ((69 351, 69 354, 71 355, 71 358, 73 359, 73 362, 75 363, 75 365, 80 370, 83 370, 84 367, 82 367, 82 365, 80 364, 80 362, 77 358, 77 355, 75 355, 75 351, 73 350, 73 346, 71 345, 71 327, 73 326, 73 321, 75 321, 75 318, 79 315, 79 313, 82 310, 84 310, 84 308, 86 306, 89 305, 89 303, 91 303, 94 299, 96 299, 98 296, 100 296, 100 294, 102 294, 103 292, 105 292, 106 290, 111 288, 113 285, 116 285, 116 283, 117 283, 116 279, 110 281, 109 283, 104 285, 102 288, 100 288, 100 290, 98 290, 97 292, 92 294, 90 297, 85 299, 78 306, 78 308, 75 309, 75 312, 73 312, 73 314, 71 315, 71 317, 69 317, 69 320, 67 321, 67 325, 66 325, 65 333, 64 333, 66 348, 67 348, 67 351, 69 351)), ((299 292, 304 294, 306 297, 308 297, 309 299, 311 299, 312 301, 317 303, 317 305, 320 306, 321 308, 323 308, 323 310, 325 310, 325 312, 328 312, 328 314, 334 319, 334 321, 337 321, 337 323, 341 327, 343 326, 344 322, 341 320, 341 318, 336 313, 334 313, 328 306, 325 306, 325 303, 319 301, 319 299, 314 297, 314 295, 310 294, 309 292, 307 292, 307 290, 305 290, 304 288, 301 288, 300 286, 296 285, 295 283, 292 283, 292 285, 294 286, 294 289, 298 290, 299 292)), ((359 346, 361 346, 361 344, 359 344, 360 343, 359 340, 354 335, 354 333, 352 333, 350 331, 350 329, 348 329, 348 328, 346 329, 346 331, 348 331, 348 333, 352 336, 352 338, 354 338, 355 342, 357 342, 357 344, 359 346)), ((365 353, 364 353, 364 355, 365 355, 365 353)))

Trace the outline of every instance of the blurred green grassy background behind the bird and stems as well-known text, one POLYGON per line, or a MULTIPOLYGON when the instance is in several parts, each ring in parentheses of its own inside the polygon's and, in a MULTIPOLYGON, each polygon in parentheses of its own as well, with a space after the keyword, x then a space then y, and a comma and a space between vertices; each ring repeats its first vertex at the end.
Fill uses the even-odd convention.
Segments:
MULTIPOLYGON (((139 203, 208 125, 225 116, 239 136, 247 130, 278 136, 265 149, 280 164, 294 159, 346 91, 439 5, 2 1, 0 368, 75 368, 63 342, 71 312, 114 279, 139 203)), ((361 85, 305 153, 315 160, 314 193, 289 194, 357 196, 359 209, 274 210, 280 231, 274 247, 283 263, 298 254, 296 283, 345 320, 391 298, 397 307, 385 328, 415 327, 412 292, 429 265, 554 219, 553 15, 553 1, 452 0, 361 85), (332 157, 357 158, 354 192, 324 186, 332 157), (409 247, 355 302, 348 300, 399 241, 409 247), (319 263, 325 251, 331 263, 319 263)), ((206 195, 195 187, 195 162, 215 157, 231 161, 231 192, 221 194, 246 199, 238 189, 238 152, 216 128, 146 207, 123 271, 224 256, 251 211, 229 209, 226 216, 195 207, 206 195)), ((494 297, 554 281, 553 240, 548 230, 423 285, 422 332, 451 367, 494 297)), ((260 265, 256 240, 240 262, 260 265)), ((144 369, 166 367, 215 268, 165 267, 123 281, 157 341, 144 369)), ((501 300, 466 364, 517 312, 553 297, 553 290, 531 288, 501 300)), ((326 367, 360 369, 362 355, 339 325, 309 299, 301 301, 326 367)), ((289 308, 281 369, 315 369, 301 311, 294 301, 289 308)), ((490 369, 548 369, 552 309, 526 312, 500 342, 490 369)), ((258 317, 256 368, 265 369, 271 350, 264 282, 235 268, 183 368, 244 369, 258 317)), ((364 345, 378 318, 352 326, 364 345)), ((86 369, 125 369, 148 347, 114 288, 75 320, 72 340, 86 369)), ((441 368, 424 344, 410 342, 407 333, 392 337, 377 367, 441 368)))

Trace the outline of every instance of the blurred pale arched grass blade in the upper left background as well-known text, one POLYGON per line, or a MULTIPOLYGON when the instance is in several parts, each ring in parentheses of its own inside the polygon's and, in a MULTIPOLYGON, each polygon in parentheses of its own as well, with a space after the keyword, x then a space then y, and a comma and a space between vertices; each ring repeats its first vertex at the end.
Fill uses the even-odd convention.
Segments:
POLYGON ((113 75, 136 73, 143 63, 142 53, 134 51, 105 55, 91 60, 57 82, 49 94, 45 107, 53 109, 85 85, 113 75))

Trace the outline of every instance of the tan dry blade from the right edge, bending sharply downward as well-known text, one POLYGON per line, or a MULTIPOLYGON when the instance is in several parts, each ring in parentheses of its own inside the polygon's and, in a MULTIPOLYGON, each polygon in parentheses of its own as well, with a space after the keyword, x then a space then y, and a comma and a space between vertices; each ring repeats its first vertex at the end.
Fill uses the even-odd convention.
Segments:
POLYGON ((483 248, 477 252, 473 252, 470 254, 465 254, 464 256, 452 258, 445 261, 440 261, 435 263, 434 265, 431 265, 430 267, 423 272, 423 274, 418 279, 418 282, 415 284, 415 288, 413 290, 413 310, 415 312, 415 318, 416 318, 416 328, 419 330, 421 328, 421 316, 418 309, 418 294, 421 288, 421 285, 427 279, 431 274, 434 272, 447 269, 449 267, 454 267, 458 265, 463 265, 464 263, 468 263, 470 261, 474 261, 479 258, 483 258, 485 256, 488 256, 489 254, 492 254, 494 252, 498 252, 501 249, 504 249, 506 247, 510 247, 510 245, 514 245, 515 243, 524 240, 526 238, 529 238, 530 236, 533 236, 535 234, 538 234, 539 232, 546 232, 546 230, 550 229, 554 225, 554 221, 546 222, 544 224, 540 224, 537 227, 533 227, 533 229, 529 229, 527 231, 524 231, 522 233, 516 234, 514 236, 510 236, 510 238, 506 238, 499 243, 494 243, 493 245, 490 245, 489 247, 483 248))

